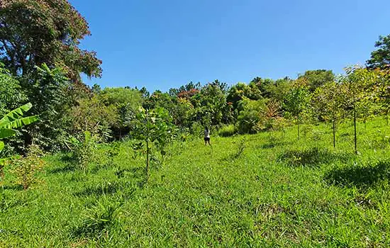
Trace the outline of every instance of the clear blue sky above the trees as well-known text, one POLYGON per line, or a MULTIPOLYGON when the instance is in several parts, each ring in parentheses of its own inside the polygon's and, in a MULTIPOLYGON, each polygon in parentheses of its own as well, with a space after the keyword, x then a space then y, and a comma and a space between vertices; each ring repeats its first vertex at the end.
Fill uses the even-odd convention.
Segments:
POLYGON ((82 47, 103 60, 101 86, 167 91, 296 77, 364 62, 390 34, 389 0, 70 0, 87 18, 82 47))

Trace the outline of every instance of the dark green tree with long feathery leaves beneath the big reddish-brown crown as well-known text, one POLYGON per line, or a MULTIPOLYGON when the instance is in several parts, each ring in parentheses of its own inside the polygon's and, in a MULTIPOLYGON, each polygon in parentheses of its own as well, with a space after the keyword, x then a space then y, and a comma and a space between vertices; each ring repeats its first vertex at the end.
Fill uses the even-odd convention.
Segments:
POLYGON ((24 132, 26 144, 37 142, 48 150, 62 148, 62 138, 67 137, 69 108, 74 104, 72 82, 65 77, 60 67, 50 68, 47 64, 35 67, 37 74, 34 81, 25 87, 29 101, 33 104, 31 113, 40 116, 37 125, 24 132))

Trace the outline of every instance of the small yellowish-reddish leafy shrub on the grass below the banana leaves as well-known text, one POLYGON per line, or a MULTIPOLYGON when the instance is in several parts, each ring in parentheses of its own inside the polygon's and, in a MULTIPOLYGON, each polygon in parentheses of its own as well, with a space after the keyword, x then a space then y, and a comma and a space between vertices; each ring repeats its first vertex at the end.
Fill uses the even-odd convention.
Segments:
POLYGON ((36 179, 36 174, 45 166, 42 156, 43 151, 38 145, 30 145, 26 157, 11 160, 16 183, 23 186, 24 190, 30 188, 32 184, 40 182, 36 179))

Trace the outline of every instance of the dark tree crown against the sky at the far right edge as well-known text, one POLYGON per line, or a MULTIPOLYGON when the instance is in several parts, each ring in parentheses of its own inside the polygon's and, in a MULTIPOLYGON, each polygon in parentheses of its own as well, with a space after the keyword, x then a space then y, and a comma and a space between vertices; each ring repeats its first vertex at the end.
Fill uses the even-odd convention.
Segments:
POLYGON ((367 66, 370 69, 386 69, 390 66, 390 35, 379 36, 375 43, 377 50, 371 53, 371 58, 367 60, 367 66))

